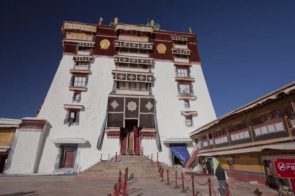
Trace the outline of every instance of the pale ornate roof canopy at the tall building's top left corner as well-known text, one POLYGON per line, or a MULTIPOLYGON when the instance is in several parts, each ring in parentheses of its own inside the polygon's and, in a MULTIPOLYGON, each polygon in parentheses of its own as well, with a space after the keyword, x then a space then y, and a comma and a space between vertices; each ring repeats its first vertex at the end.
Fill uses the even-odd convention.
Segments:
POLYGON ((96 33, 96 25, 64 22, 61 27, 61 32, 64 36, 66 35, 66 30, 82 30, 86 32, 96 33))

